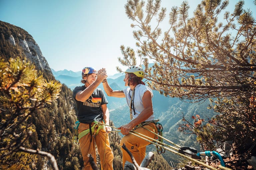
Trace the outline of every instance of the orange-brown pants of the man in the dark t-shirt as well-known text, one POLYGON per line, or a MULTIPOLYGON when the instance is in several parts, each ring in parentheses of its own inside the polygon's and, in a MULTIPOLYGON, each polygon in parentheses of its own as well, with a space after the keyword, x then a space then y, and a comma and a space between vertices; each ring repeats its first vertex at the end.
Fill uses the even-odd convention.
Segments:
MULTIPOLYGON (((101 122, 103 123, 103 121, 101 122)), ((94 123, 91 123, 91 127, 94 125, 94 123)), ((80 123, 78 127, 78 133, 89 129, 89 124, 84 124, 80 123)), ((95 135, 97 131, 97 125, 94 128, 94 131, 92 131, 92 141, 91 141, 91 134, 90 132, 84 135, 80 140, 80 149, 82 152, 83 156, 83 161, 84 161, 84 170, 92 170, 92 167, 89 162, 89 157, 88 154, 91 154, 95 164, 96 162, 96 147, 95 144, 97 145, 98 148, 98 153, 100 156, 100 164, 101 164, 101 169, 103 170, 113 170, 113 152, 110 148, 109 144, 109 136, 107 134, 106 137, 106 129, 101 128, 98 132, 97 135, 95 135), (105 144, 106 141, 106 144, 105 144), (103 162, 104 161, 104 162, 103 162)))

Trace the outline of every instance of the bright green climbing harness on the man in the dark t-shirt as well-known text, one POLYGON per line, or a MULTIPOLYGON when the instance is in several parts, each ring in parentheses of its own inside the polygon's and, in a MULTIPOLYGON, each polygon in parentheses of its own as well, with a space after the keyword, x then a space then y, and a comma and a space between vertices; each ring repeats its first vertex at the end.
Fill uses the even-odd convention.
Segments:
MULTIPOLYGON (((89 124, 89 128, 88 129, 78 133, 78 127, 79 127, 80 122, 76 121, 75 126, 74 126, 74 137, 73 137, 73 140, 74 140, 75 143, 78 144, 79 143, 79 139, 81 139, 83 136, 85 136, 88 133, 90 133, 91 136, 92 136, 92 132, 94 132, 94 128, 95 128, 96 125, 97 125, 98 129, 95 132, 95 135, 97 135, 99 133, 101 128, 105 128, 105 125, 100 123, 100 122, 98 122, 98 121, 94 121, 93 123, 94 123, 94 125, 92 127, 91 127, 91 124, 89 124)), ((92 141, 92 138, 91 138, 91 141, 92 141)))

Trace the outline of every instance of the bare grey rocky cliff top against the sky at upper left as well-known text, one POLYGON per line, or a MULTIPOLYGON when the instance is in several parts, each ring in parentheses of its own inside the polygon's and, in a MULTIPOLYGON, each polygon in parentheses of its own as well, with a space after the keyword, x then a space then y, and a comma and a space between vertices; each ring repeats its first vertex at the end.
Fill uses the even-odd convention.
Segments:
MULTIPOLYGON (((45 70, 51 73, 51 69, 45 57, 43 56, 40 47, 35 42, 33 37, 28 34, 28 32, 2 21, 0 21, 0 31, 1 39, 8 40, 7 42, 9 42, 9 44, 5 45, 12 45, 13 48, 18 50, 16 55, 26 55, 26 58, 31 60, 32 63, 36 65, 38 70, 45 70)), ((3 53, 3 51, 1 52, 3 53)))

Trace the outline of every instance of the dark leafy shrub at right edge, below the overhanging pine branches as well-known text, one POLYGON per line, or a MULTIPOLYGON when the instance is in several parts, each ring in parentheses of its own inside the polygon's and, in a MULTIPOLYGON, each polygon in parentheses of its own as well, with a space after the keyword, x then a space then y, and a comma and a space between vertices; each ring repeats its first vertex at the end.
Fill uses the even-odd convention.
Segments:
MULTIPOLYGON (((254 102, 255 103, 255 102, 254 102)), ((231 140, 239 155, 256 155, 256 107, 251 105, 246 96, 224 99, 218 105, 211 105, 219 115, 211 119, 214 140, 231 140), (249 106, 249 107, 248 107, 249 106), (222 136, 222 137, 219 137, 222 136)), ((207 126, 207 125, 205 125, 207 126)), ((202 142, 203 143, 203 142, 202 142)))

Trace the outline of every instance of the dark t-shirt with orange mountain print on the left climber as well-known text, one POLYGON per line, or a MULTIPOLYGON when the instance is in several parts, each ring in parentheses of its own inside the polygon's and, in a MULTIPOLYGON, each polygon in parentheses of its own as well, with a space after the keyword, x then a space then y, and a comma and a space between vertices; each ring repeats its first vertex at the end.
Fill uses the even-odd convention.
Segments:
POLYGON ((77 119, 81 123, 92 123, 93 121, 102 121, 103 114, 101 105, 108 104, 105 94, 102 89, 96 88, 92 95, 85 101, 80 102, 76 100, 76 94, 79 91, 85 90, 85 86, 75 87, 73 90, 73 98, 77 105, 77 119))

